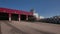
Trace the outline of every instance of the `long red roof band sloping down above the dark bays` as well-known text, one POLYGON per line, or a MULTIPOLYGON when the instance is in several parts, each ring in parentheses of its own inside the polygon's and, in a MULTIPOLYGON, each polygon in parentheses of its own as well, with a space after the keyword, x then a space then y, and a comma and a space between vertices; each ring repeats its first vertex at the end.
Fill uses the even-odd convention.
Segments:
POLYGON ((8 8, 0 8, 0 12, 12 13, 12 14, 24 14, 24 15, 32 15, 32 12, 22 11, 22 10, 13 10, 8 8))

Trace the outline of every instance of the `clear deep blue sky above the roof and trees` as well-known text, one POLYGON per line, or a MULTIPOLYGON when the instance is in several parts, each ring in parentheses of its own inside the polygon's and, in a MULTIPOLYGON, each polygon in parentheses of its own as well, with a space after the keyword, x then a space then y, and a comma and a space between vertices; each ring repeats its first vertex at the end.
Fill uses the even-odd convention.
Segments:
POLYGON ((0 7, 35 11, 44 17, 60 15, 60 0, 0 0, 0 7))

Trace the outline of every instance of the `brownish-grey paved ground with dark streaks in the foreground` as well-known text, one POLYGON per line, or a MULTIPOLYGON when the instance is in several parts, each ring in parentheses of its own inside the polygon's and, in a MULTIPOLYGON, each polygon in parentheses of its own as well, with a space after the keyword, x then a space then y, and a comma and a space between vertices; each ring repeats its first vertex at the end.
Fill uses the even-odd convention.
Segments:
POLYGON ((1 23, 2 34, 60 34, 60 25, 57 24, 23 21, 4 21, 1 23))

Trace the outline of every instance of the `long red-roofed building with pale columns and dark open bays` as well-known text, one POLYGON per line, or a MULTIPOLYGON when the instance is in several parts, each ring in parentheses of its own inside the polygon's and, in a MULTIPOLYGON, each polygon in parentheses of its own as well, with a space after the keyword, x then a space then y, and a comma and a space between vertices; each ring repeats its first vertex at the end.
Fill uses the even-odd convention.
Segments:
POLYGON ((14 10, 9 8, 0 8, 0 20, 29 20, 33 16, 32 12, 14 10))

